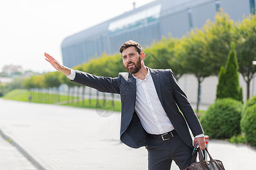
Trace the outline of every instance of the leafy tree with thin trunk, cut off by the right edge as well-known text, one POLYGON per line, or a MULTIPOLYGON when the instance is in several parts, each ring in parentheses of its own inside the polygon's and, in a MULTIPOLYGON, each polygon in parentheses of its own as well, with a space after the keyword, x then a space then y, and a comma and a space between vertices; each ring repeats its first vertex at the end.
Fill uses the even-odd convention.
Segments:
POLYGON ((256 72, 256 67, 252 61, 256 57, 256 15, 250 15, 244 18, 240 24, 237 24, 237 58, 239 71, 247 85, 246 99, 250 97, 250 82, 256 72))

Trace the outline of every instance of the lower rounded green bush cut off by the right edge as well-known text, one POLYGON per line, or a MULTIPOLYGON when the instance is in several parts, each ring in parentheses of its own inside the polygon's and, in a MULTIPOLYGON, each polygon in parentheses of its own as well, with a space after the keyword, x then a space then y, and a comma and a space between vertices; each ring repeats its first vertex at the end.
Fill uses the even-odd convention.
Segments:
POLYGON ((256 147, 256 103, 243 113, 241 130, 245 133, 246 142, 256 147))

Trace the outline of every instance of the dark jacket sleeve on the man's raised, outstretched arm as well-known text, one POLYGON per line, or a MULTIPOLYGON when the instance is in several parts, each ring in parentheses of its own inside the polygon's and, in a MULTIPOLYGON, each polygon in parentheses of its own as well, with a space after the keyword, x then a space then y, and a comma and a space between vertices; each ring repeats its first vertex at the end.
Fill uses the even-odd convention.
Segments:
POLYGON ((84 86, 95 88, 100 92, 108 92, 114 94, 120 94, 120 76, 118 78, 96 76, 93 74, 85 73, 82 71, 76 71, 76 77, 72 80, 75 83, 82 84, 84 86))

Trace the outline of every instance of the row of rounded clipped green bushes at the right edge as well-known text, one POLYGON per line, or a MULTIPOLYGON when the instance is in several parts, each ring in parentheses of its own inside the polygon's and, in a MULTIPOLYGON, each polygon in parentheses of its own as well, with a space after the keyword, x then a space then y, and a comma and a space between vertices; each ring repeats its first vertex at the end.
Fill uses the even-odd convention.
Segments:
POLYGON ((256 96, 245 107, 241 101, 231 98, 217 99, 200 117, 205 134, 213 139, 229 139, 256 146, 256 96))

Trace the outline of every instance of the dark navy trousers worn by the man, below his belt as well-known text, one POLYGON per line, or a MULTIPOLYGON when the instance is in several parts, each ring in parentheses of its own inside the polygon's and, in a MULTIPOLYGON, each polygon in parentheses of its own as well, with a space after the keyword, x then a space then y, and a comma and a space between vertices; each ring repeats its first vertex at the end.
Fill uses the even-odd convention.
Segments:
POLYGON ((148 139, 148 169, 170 170, 172 160, 180 169, 189 167, 193 149, 175 135, 167 141, 148 139))

